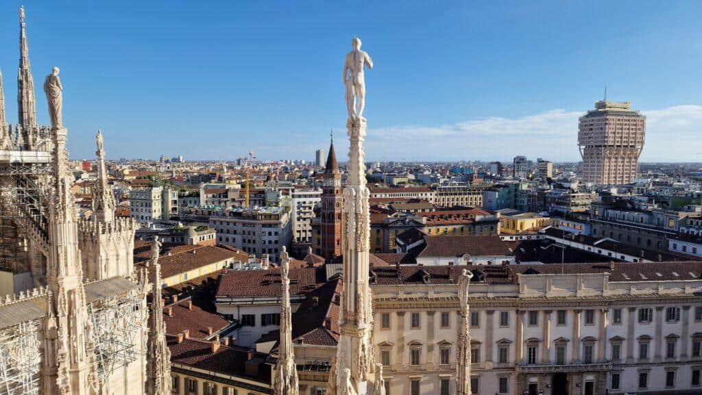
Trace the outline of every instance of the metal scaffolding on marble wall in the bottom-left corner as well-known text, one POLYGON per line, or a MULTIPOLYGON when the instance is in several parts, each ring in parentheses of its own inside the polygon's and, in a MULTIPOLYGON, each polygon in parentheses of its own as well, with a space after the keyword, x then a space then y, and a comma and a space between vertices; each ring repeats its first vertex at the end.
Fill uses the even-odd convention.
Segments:
POLYGON ((0 395, 39 394, 40 320, 0 330, 0 395))

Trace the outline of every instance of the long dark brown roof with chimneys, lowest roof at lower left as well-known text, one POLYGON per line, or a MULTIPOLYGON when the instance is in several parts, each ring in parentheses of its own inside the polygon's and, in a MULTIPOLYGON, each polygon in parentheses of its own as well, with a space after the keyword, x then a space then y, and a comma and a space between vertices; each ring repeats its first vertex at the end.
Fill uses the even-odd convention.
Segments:
MULTIPOLYGON (((171 350, 172 363, 180 363, 192 368, 211 370, 227 375, 246 377, 262 384, 270 384, 270 366, 265 363, 260 363, 256 375, 246 374, 249 349, 244 347, 220 344, 219 349, 213 353, 211 342, 185 339, 183 342, 178 343, 175 338, 169 337, 168 349, 171 350)), ((255 355, 262 360, 265 357, 263 354, 255 355)))

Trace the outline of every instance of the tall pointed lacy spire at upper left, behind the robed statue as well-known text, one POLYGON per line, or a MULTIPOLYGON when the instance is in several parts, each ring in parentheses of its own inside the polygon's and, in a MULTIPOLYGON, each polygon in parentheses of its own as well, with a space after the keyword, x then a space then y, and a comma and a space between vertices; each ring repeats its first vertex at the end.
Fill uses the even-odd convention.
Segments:
POLYGON ((17 91, 18 123, 22 128, 33 128, 37 125, 37 100, 34 98, 32 66, 29 65, 24 6, 20 6, 20 69, 17 74, 17 91))

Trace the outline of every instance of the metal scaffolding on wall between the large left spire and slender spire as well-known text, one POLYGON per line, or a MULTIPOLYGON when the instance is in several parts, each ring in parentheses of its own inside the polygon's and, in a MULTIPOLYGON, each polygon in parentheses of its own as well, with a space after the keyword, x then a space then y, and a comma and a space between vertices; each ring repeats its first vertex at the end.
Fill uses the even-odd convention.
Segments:
POLYGON ((141 355, 138 336, 143 330, 142 303, 143 297, 131 290, 124 297, 108 297, 89 305, 101 382, 107 382, 114 370, 141 355))

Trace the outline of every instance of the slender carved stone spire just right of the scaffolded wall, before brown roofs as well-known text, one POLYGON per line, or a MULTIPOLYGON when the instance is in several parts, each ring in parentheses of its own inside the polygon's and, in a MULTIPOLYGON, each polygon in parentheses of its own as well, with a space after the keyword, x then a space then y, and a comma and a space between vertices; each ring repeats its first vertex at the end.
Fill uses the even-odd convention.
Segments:
MULTIPOLYGON (((166 344, 166 323, 164 322, 164 303, 161 299, 161 264, 159 255, 161 242, 154 236, 151 243, 151 264, 154 265, 154 286, 152 293, 149 343, 147 358, 147 395, 171 394, 171 350, 166 344)), ((145 279, 147 281, 147 279, 145 279)))

